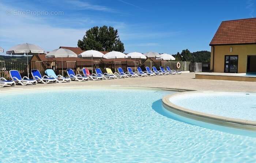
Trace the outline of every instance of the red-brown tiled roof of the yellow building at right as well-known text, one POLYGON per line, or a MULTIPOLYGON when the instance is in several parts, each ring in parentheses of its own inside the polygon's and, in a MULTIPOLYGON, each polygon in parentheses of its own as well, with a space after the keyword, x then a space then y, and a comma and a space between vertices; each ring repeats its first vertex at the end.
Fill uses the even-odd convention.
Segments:
POLYGON ((211 45, 256 44, 256 18, 222 21, 211 45))

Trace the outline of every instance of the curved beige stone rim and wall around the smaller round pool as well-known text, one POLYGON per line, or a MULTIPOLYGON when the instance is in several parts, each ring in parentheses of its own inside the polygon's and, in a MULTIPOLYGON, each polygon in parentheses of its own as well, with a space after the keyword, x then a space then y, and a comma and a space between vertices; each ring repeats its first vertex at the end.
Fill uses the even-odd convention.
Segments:
MULTIPOLYGON (((177 106, 176 104, 170 102, 170 98, 175 96, 182 96, 186 94, 195 94, 195 93, 218 93, 218 92, 237 92, 237 91, 189 91, 189 92, 178 92, 171 95, 166 95, 162 98, 163 107, 173 112, 174 114, 178 114, 190 119, 199 120, 206 123, 217 124, 226 127, 233 127, 243 130, 256 131, 256 121, 253 120, 244 120, 237 118, 229 118, 225 116, 218 116, 213 114, 208 114, 199 111, 193 111, 188 108, 184 108, 181 106, 177 106)), ((237 92, 238 93, 238 92, 237 92)), ((246 92, 253 93, 253 92, 246 92)))

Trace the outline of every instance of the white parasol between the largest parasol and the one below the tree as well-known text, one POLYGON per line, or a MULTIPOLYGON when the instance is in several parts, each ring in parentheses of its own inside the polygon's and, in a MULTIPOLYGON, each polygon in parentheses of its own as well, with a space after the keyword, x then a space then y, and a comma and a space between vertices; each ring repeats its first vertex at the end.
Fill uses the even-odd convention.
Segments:
POLYGON ((61 58, 62 64, 62 76, 63 76, 63 57, 77 57, 77 54, 69 49, 59 48, 53 51, 50 51, 48 54, 45 55, 46 58, 61 58))

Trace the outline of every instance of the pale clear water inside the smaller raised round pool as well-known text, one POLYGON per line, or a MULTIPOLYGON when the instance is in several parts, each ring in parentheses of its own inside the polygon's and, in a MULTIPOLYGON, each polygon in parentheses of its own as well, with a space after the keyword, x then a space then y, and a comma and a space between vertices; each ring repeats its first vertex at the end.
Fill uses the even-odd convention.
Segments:
POLYGON ((173 97, 170 102, 207 114, 256 120, 256 93, 193 93, 173 97))

